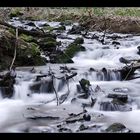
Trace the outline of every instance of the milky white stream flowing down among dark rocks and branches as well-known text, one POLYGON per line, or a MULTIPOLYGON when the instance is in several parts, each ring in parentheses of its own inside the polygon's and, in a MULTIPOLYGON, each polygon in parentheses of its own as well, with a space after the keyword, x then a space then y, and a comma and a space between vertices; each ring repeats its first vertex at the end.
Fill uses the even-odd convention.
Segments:
MULTIPOLYGON (((9 23, 15 26, 23 24, 18 20, 11 20, 9 23)), ((46 23, 46 21, 36 21, 34 23, 39 27, 41 24, 46 23)), ((57 27, 60 24, 59 22, 47 23, 52 27, 57 27)), ((28 28, 29 30, 31 29, 31 27, 28 28)), ((61 41, 63 47, 73 42, 75 38, 82 37, 78 34, 67 34, 71 28, 72 25, 66 26, 66 31, 61 32, 61 35, 67 38, 57 37, 57 41, 61 41)), ((89 37, 92 35, 102 36, 102 34, 101 32, 89 32, 89 37)), ((84 38, 82 46, 86 48, 86 51, 77 53, 72 58, 74 61, 72 64, 47 63, 45 66, 34 67, 35 73, 30 72, 32 67, 16 68, 17 77, 16 84, 14 85, 14 96, 10 99, 2 98, 0 94, 0 132, 100 133, 116 122, 124 124, 126 128, 133 132, 140 132, 140 78, 126 81, 121 80, 120 72, 117 71, 125 66, 125 64, 119 61, 121 57, 130 60, 140 59, 140 55, 137 54, 137 47, 139 45, 140 36, 107 33, 105 44, 96 39, 84 38), (120 37, 116 40, 120 45, 112 43, 110 37, 114 35, 120 37), (46 74, 49 67, 57 77, 63 76, 63 73, 60 71, 61 66, 67 66, 73 72, 77 72, 77 75, 69 80, 70 92, 67 99, 57 106, 56 96, 54 92, 48 92, 48 85, 43 83, 39 92, 33 92, 29 87, 34 83, 36 76, 46 74), (107 69, 106 73, 102 71, 103 68, 107 69), (76 121, 75 123, 68 124, 62 123, 63 120, 70 116, 69 114, 82 112, 83 103, 89 104, 91 102, 90 97, 87 99, 78 98, 79 91, 77 85, 83 78, 90 81, 90 88, 93 91, 90 97, 97 99, 94 106, 85 107, 91 116, 91 120, 76 121), (109 103, 112 98, 108 98, 108 94, 125 95, 128 97, 128 101, 125 105, 114 106, 109 103), (106 103, 109 103, 109 105, 106 105, 106 103), (49 116, 48 119, 46 116, 49 116), (79 130, 81 124, 94 126, 91 129, 79 130), (65 129, 58 130, 58 125, 62 125, 65 129)), ((140 71, 136 70, 135 74, 139 76, 140 71)), ((68 87, 62 80, 56 79, 54 87, 59 97, 68 92, 68 87)))

